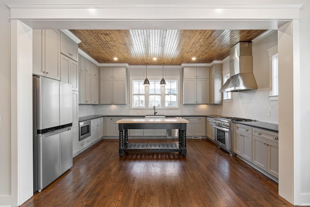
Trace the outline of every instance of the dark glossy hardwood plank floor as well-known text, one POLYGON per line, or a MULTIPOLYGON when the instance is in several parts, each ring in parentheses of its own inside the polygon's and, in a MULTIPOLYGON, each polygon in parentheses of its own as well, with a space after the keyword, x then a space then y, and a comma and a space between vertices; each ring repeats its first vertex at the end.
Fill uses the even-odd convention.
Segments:
MULTIPOLYGON (((132 140, 163 143, 177 140, 132 140)), ((125 153, 102 140, 22 207, 279 207, 293 206, 278 184, 206 140, 188 139, 187 155, 125 153)))

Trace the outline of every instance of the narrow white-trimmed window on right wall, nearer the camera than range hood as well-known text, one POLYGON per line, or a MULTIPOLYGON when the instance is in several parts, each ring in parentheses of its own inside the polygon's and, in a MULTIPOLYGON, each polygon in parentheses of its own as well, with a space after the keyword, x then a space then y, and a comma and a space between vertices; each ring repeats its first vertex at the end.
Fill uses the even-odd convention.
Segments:
POLYGON ((277 101, 279 96, 278 46, 268 49, 269 52, 269 100, 277 101))

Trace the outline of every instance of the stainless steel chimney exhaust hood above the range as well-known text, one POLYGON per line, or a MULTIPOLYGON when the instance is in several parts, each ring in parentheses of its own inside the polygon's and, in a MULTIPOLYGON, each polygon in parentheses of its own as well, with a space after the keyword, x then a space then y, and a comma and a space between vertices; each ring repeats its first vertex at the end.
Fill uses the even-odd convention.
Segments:
POLYGON ((230 77, 219 92, 257 89, 253 75, 251 42, 239 42, 230 49, 229 66, 230 77))

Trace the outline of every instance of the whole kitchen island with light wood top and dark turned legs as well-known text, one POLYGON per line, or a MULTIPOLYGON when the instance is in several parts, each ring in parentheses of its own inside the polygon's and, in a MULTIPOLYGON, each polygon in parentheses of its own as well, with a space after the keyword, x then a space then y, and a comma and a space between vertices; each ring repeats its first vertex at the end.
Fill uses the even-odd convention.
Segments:
POLYGON ((186 119, 148 118, 121 119, 119 125, 119 155, 124 152, 181 152, 186 156, 186 119), (178 143, 128 143, 128 129, 179 129, 178 143))

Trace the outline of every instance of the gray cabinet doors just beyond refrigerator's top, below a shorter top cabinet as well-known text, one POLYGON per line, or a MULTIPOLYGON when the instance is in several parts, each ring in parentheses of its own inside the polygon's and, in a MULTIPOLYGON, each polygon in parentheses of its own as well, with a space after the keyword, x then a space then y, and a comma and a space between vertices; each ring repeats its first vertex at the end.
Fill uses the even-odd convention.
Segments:
POLYGON ((72 90, 78 91, 78 62, 61 54, 61 81, 72 84, 72 90))

